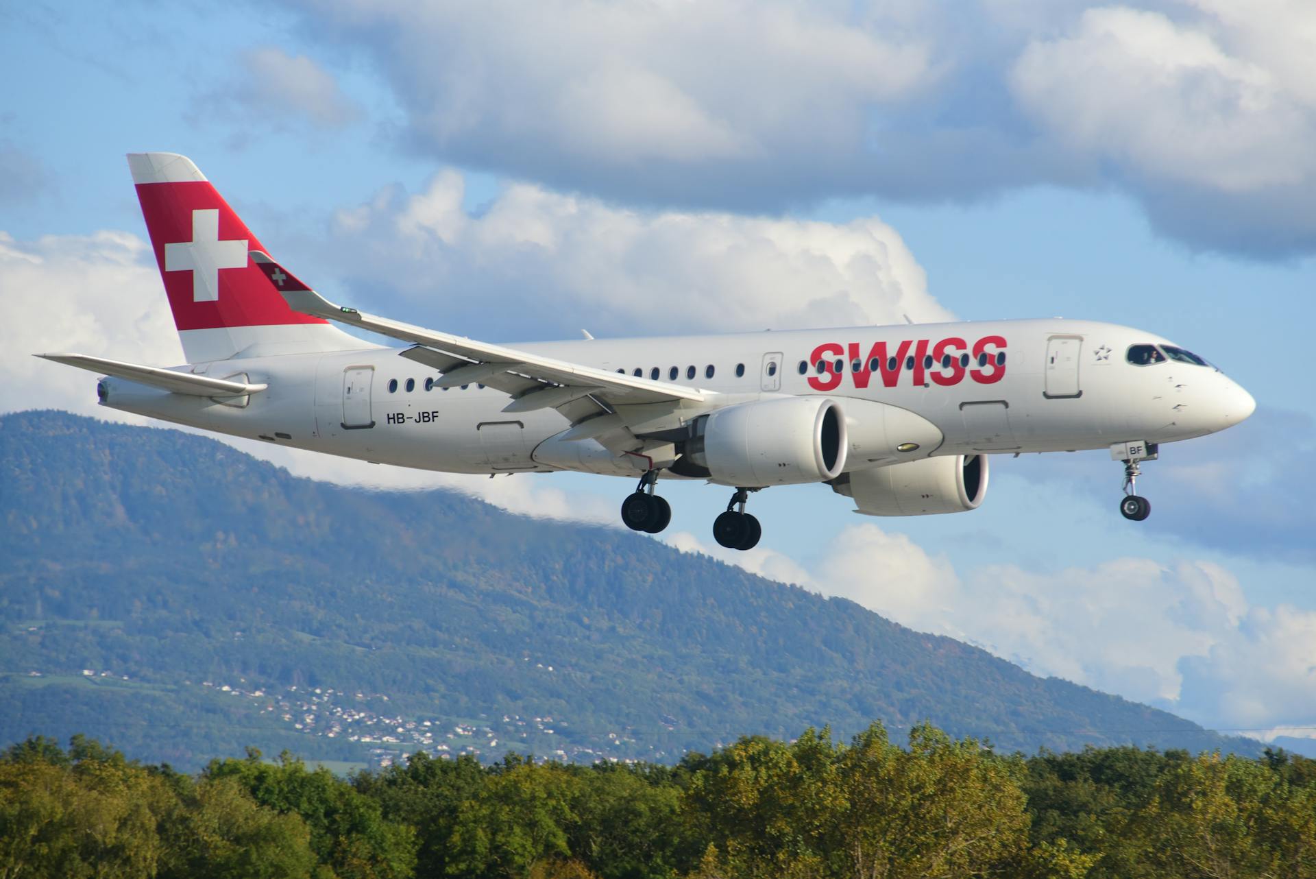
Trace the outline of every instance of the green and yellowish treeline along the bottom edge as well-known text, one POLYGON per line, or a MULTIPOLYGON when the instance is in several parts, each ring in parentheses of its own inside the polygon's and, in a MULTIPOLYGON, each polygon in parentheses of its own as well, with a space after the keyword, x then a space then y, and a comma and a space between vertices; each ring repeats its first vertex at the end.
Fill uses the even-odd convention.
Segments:
POLYGON ((284 754, 196 776, 95 741, 0 757, 25 876, 1316 876, 1316 761, 1137 747, 999 755, 924 725, 749 737, 676 766, 415 754, 349 780, 284 754))

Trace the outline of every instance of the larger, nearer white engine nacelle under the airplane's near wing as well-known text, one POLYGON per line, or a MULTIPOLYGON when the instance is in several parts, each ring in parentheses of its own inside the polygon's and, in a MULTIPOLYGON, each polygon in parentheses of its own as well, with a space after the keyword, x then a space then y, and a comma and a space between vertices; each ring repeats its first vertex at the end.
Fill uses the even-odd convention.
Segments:
POLYGON ((845 413, 826 397, 730 405, 695 422, 686 454, 726 486, 826 482, 845 470, 845 413))

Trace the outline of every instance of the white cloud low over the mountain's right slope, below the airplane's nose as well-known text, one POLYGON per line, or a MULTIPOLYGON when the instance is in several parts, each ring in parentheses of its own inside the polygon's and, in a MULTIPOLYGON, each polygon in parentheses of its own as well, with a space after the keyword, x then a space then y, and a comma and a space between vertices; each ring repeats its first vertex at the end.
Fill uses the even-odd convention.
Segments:
POLYGON ((1316 724, 1316 612, 1250 605, 1238 579, 1212 562, 1117 558, 962 575, 869 524, 842 529, 807 565, 772 550, 741 561, 688 534, 669 542, 1207 726, 1266 737, 1273 726, 1316 724))

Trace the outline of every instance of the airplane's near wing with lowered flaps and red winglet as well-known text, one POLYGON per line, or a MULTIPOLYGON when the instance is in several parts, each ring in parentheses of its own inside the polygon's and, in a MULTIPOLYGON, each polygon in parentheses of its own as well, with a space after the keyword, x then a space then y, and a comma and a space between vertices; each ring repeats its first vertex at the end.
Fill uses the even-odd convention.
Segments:
POLYGON ((609 372, 334 305, 267 254, 253 250, 251 259, 293 311, 411 342, 413 347, 401 355, 442 372, 441 387, 478 382, 497 388, 512 397, 504 412, 557 409, 571 422, 563 440, 595 438, 619 454, 633 451, 640 441, 629 430, 634 418, 626 416, 626 407, 644 407, 646 420, 651 420, 662 404, 672 409, 704 408, 700 404, 716 396, 712 391, 609 372))

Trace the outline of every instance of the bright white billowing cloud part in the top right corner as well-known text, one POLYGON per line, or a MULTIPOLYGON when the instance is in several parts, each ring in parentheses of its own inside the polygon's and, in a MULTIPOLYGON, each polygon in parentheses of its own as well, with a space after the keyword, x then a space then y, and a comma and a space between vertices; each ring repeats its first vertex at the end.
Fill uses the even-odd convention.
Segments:
MULTIPOLYGON (((1304 100, 1303 82, 1316 74, 1316 43, 1305 78, 1291 78, 1277 75, 1265 55, 1229 54, 1208 25, 1125 7, 1090 9, 1073 36, 1029 45, 1011 82, 1024 108, 1069 149, 1132 174, 1223 193, 1316 191, 1316 100, 1304 100)), ((1250 38, 1240 43, 1273 45, 1244 26, 1250 38)))

